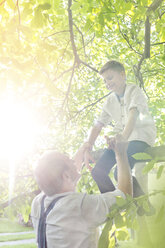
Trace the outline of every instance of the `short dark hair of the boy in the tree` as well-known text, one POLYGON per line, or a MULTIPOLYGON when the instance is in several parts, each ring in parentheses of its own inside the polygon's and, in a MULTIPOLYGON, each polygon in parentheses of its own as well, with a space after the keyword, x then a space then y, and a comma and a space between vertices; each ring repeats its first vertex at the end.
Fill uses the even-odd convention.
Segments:
POLYGON ((102 75, 105 71, 109 69, 117 72, 125 72, 123 64, 116 60, 110 60, 101 68, 101 70, 99 71, 100 75, 102 75))

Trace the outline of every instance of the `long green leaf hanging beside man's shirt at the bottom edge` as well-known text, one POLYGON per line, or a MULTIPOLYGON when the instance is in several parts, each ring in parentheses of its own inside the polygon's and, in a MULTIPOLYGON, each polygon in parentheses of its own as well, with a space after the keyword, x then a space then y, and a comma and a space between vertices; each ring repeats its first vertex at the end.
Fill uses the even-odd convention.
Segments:
POLYGON ((109 231, 112 228, 112 220, 108 220, 105 224, 101 236, 99 238, 98 248, 108 248, 109 246, 109 231))

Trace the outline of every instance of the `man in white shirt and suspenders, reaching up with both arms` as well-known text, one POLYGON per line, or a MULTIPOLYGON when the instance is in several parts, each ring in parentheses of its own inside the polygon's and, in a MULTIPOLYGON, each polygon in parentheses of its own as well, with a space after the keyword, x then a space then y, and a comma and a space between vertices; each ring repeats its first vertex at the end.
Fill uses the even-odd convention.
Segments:
MULTIPOLYGON (((55 151, 46 153, 35 169, 36 181, 43 191, 32 203, 31 216, 36 236, 41 226, 39 219, 43 196, 45 209, 54 199, 61 197, 46 217, 47 248, 96 248, 96 228, 106 221, 116 196, 132 195, 127 143, 120 135, 114 140, 118 188, 98 195, 76 193, 85 150, 86 145, 83 145, 74 161, 55 151)), ((41 243, 39 247, 43 247, 41 243)))

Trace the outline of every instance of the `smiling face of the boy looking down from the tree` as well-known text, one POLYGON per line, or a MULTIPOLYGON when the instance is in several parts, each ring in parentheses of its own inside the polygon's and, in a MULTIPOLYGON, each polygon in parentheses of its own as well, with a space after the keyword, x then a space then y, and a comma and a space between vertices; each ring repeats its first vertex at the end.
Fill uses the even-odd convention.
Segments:
POLYGON ((102 76, 108 90, 117 94, 122 93, 122 89, 125 86, 125 72, 118 72, 109 69, 103 72, 102 76))

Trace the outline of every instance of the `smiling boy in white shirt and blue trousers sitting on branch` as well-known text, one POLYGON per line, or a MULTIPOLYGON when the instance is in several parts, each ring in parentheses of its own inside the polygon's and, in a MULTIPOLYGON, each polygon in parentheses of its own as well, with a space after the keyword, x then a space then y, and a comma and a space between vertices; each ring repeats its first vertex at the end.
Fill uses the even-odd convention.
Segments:
MULTIPOLYGON (((86 142, 88 148, 84 157, 85 164, 87 167, 89 166, 90 151, 102 128, 114 121, 114 132, 120 133, 129 142, 127 154, 132 169, 136 163, 132 155, 144 152, 147 147, 154 144, 156 137, 154 121, 149 114, 147 101, 141 89, 137 85, 126 84, 125 69, 121 63, 114 60, 107 62, 100 70, 100 75, 104 78, 107 89, 112 93, 108 96, 102 114, 92 128, 86 142)), ((111 168, 116 164, 113 151, 114 138, 115 136, 107 138, 109 147, 92 170, 92 176, 101 193, 114 190, 108 177, 111 168)), ((135 197, 143 193, 134 177, 133 186, 135 197)))

